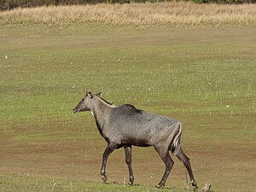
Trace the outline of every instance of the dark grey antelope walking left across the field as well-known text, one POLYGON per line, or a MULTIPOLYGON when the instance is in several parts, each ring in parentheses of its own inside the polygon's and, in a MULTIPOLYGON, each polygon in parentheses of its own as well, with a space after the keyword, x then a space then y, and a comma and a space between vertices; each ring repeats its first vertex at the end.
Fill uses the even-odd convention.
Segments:
POLYGON ((178 160, 183 162, 189 172, 190 182, 197 189, 189 158, 181 148, 182 124, 166 116, 148 113, 130 104, 113 106, 101 97, 101 93, 87 92, 82 101, 73 109, 74 113, 90 111, 96 119, 96 125, 102 137, 108 143, 102 155, 101 175, 104 183, 107 181, 106 165, 108 155, 116 148, 125 148, 125 162, 129 169, 129 184, 133 184, 134 177, 131 167, 131 146, 153 146, 166 164, 166 171, 156 185, 165 186, 166 179, 174 164, 169 150, 178 160))

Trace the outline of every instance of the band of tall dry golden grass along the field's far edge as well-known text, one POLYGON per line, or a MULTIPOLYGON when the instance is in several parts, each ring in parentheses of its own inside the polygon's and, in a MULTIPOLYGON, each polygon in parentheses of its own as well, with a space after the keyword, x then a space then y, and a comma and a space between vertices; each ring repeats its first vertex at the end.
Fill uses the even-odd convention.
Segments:
POLYGON ((256 4, 190 2, 96 4, 14 9, 0 13, 0 22, 68 25, 98 21, 121 25, 256 26, 256 4))

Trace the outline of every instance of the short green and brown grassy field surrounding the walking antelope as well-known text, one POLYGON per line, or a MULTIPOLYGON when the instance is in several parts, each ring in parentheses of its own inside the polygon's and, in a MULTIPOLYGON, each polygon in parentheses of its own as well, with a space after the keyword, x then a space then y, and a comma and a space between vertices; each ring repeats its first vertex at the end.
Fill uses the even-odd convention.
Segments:
POLYGON ((102 90, 114 104, 180 119, 183 148, 201 187, 211 181, 215 191, 255 190, 253 22, 143 27, 102 20, 66 26, 3 22, 1 191, 186 188, 176 158, 166 189, 153 188, 165 169, 153 148, 133 148, 140 186, 123 186, 128 172, 122 149, 108 160, 111 184, 101 184, 106 143, 90 113, 72 112, 86 88, 102 90))

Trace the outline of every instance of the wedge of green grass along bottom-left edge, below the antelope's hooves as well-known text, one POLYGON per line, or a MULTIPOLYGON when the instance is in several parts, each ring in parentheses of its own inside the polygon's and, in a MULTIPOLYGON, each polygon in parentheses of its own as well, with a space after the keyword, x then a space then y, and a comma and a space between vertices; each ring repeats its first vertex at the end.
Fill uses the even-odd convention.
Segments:
MULTIPOLYGON (((55 177, 11 175, 0 177, 1 191, 16 192, 85 192, 85 191, 170 191, 170 189, 154 189, 147 186, 129 186, 119 183, 95 183, 89 181, 63 180, 55 177)), ((186 189, 171 189, 172 192, 185 192, 186 189)))

